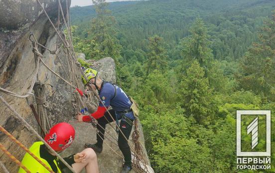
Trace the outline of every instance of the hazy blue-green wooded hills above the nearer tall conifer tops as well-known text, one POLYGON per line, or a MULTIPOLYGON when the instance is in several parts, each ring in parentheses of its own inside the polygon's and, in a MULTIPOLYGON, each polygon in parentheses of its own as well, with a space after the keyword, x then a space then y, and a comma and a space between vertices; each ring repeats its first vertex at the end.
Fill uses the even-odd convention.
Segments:
MULTIPOLYGON (((257 29, 275 9, 275 0, 123 1, 110 3, 109 9, 117 20, 118 39, 123 47, 130 46, 128 50, 138 48, 146 52, 143 41, 155 34, 175 47, 189 35, 194 19, 201 17, 215 40, 215 57, 219 54, 221 59, 238 59, 257 40, 257 29)), ((77 35, 87 36, 86 29, 94 16, 93 6, 71 8, 72 24, 79 26, 77 35)))

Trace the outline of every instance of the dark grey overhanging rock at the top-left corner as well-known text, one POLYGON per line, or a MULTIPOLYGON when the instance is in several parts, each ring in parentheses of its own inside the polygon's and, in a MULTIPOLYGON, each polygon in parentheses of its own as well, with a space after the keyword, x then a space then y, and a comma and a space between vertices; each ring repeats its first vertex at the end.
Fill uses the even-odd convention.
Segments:
MULTIPOLYGON (((58 16, 58 0, 39 2, 52 19, 58 16)), ((66 15, 71 0, 60 0, 60 3, 66 15)), ((37 0, 0 0, 0 72, 17 41, 41 18, 45 19, 45 14, 37 0)))

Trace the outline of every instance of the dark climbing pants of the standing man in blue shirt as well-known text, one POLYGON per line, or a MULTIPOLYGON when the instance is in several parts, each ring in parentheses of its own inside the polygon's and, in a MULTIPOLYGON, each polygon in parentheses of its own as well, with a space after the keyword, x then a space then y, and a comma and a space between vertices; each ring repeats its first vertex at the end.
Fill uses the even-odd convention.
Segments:
MULTIPOLYGON (((114 118, 114 120, 116 120, 115 111, 113 109, 111 109, 111 110, 109 110, 109 112, 112 115, 112 117, 114 118)), ((97 133, 97 144, 96 145, 98 147, 102 147, 102 145, 103 145, 106 124, 108 124, 109 122, 113 122, 113 119, 110 117, 110 115, 107 111, 105 112, 104 116, 98 119, 97 129, 100 131, 99 133, 97 133), (109 122, 106 119, 108 119, 109 122)), ((119 119, 121 119, 121 117, 119 119)), ((129 139, 129 136, 131 134, 132 126, 133 126, 133 124, 130 124, 124 120, 121 120, 120 129, 124 133, 124 135, 127 139, 129 139)), ((125 137, 123 136, 123 134, 121 133, 121 131, 119 131, 119 140, 118 140, 119 148, 122 151, 122 154, 124 156, 125 165, 131 166, 130 146, 129 146, 127 140, 125 139, 125 137)))

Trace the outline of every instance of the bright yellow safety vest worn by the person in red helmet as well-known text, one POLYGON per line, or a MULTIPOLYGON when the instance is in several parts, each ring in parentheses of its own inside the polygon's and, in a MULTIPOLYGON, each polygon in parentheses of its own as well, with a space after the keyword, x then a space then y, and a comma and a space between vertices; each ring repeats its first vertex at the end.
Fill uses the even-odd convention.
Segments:
MULTIPOLYGON (((43 145, 43 142, 35 142, 29 148, 30 152, 33 153, 38 159, 40 159, 43 163, 45 163, 50 169, 51 166, 49 163, 40 157, 40 146, 43 145)), ((56 161, 53 161, 57 168, 57 173, 61 173, 59 170, 56 161)), ((43 167, 39 162, 37 162, 33 157, 31 157, 28 153, 25 154, 22 162, 21 162, 31 173, 49 173, 49 171, 43 167)), ((18 173, 26 173, 21 167, 18 173)))

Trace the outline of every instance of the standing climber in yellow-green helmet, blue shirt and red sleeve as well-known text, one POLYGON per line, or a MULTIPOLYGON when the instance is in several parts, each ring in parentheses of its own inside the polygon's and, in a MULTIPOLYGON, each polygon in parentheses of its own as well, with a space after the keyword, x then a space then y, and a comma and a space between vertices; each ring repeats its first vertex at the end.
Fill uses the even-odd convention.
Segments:
MULTIPOLYGON (((125 164, 121 173, 128 173, 132 169, 132 162, 131 150, 127 140, 129 139, 132 131, 133 121, 135 120, 134 113, 130 108, 132 102, 128 98, 127 94, 119 86, 102 81, 99 77, 97 77, 96 70, 86 69, 84 73, 88 79, 87 81, 84 77, 82 77, 84 85, 97 89, 99 91, 100 99, 102 100, 102 102, 99 103, 97 111, 91 114, 91 116, 98 121, 97 129, 100 132, 97 134, 97 143, 85 144, 85 147, 92 148, 97 153, 101 153, 103 149, 106 124, 113 122, 114 120, 121 120, 118 144, 125 159, 125 164), (112 106, 112 109, 109 110, 109 112, 113 118, 106 111, 106 108, 103 104, 106 108, 112 106), (125 135, 127 140, 122 133, 125 135)), ((79 113, 76 118, 78 122, 91 122, 91 116, 82 115, 79 113)))

